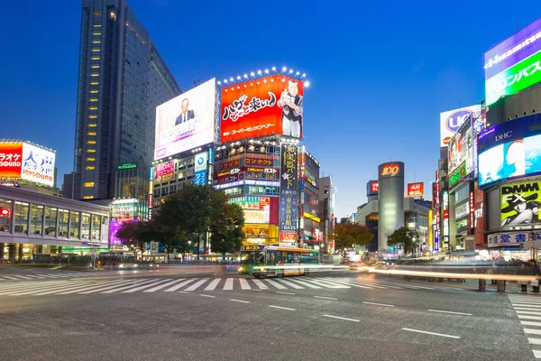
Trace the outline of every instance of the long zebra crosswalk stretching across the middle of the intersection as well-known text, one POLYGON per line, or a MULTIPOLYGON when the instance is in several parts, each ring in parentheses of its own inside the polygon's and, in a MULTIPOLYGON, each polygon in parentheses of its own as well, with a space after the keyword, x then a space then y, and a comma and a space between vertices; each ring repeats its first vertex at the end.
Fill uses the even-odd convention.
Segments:
MULTIPOLYGON (((450 287, 408 284, 380 279, 347 277, 286 277, 252 279, 239 277, 208 278, 122 278, 47 280, 42 282, 0 283, 0 296, 44 296, 66 294, 111 294, 149 292, 212 292, 212 291, 284 291, 284 290, 445 290, 450 287)), ((463 290, 463 289, 460 289, 463 290)))

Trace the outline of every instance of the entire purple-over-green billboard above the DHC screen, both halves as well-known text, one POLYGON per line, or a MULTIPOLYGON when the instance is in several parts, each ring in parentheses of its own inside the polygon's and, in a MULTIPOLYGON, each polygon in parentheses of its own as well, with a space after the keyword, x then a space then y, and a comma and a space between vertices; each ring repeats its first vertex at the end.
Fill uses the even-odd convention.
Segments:
POLYGON ((485 52, 486 104, 509 96, 541 79, 541 18, 485 52))

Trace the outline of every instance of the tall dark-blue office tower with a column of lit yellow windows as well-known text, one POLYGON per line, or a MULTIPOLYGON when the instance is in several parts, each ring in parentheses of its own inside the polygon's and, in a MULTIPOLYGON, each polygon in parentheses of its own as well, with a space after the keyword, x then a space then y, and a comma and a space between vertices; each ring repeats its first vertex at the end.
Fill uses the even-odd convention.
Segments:
POLYGON ((73 198, 148 197, 156 106, 180 93, 125 0, 83 0, 73 198))

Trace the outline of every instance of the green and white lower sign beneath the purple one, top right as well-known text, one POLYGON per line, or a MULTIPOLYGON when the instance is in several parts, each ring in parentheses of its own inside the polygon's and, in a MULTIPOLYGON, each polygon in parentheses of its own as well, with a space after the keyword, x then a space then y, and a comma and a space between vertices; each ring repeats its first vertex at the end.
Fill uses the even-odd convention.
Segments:
POLYGON ((539 81, 541 81, 541 52, 536 52, 485 81, 486 104, 490 106, 500 97, 513 95, 539 81))

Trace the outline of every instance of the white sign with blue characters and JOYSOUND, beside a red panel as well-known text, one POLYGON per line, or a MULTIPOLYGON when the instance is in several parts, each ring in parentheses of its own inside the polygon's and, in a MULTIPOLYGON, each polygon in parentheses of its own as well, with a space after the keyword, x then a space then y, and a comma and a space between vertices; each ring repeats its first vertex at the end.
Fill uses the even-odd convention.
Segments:
POLYGON ((21 178, 54 187, 56 154, 29 143, 23 143, 21 178))

